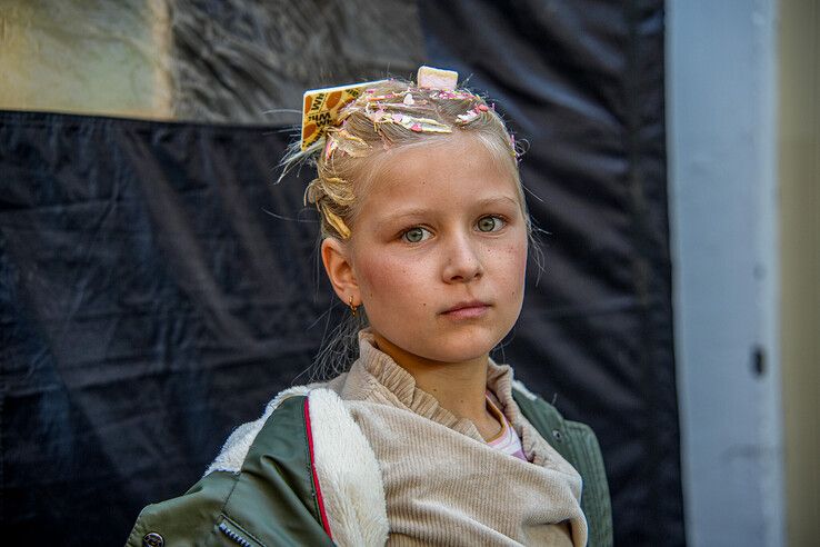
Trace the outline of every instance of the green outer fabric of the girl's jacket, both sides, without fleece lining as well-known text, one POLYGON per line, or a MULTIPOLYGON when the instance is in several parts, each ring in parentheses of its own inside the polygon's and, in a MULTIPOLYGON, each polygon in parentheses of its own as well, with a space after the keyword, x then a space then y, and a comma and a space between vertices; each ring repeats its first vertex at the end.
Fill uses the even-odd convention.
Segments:
MULTIPOLYGON (((612 545, 609 488, 592 430, 564 420, 529 391, 513 389, 513 397, 523 416, 581 475, 588 545, 612 545)), ((309 405, 303 391, 278 397, 233 467, 212 466, 184 495, 146 507, 127 545, 333 545, 313 468, 309 405)))

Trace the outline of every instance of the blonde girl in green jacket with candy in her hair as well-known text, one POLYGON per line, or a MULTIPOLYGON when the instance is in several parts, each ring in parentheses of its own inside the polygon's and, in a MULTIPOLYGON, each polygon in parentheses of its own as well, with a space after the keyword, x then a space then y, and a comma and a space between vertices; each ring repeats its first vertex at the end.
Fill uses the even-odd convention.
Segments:
POLYGON ((594 436, 489 358, 524 292, 514 142, 454 73, 418 80, 313 116, 326 131, 309 120, 288 160, 314 158, 306 197, 366 325, 358 359, 277 396, 191 490, 143 509, 129 545, 611 543, 594 436))

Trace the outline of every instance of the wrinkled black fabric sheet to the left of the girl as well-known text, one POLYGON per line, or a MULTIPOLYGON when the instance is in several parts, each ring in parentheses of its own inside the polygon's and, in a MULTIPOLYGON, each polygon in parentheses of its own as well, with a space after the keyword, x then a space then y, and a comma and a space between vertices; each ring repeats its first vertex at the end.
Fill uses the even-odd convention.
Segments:
POLYGON ((124 541, 310 365, 330 291, 303 181, 271 183, 284 146, 272 129, 0 113, 7 534, 124 541))

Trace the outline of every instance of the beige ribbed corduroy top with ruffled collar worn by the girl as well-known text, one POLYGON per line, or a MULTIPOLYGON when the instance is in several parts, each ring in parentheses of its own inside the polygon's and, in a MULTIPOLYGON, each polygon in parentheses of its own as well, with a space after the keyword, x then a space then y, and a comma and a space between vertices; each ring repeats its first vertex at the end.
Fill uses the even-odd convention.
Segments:
POLYGON ((512 399, 512 370, 490 362, 487 385, 532 463, 489 447, 476 426, 418 389, 360 334, 360 358, 329 385, 346 401, 381 468, 389 544, 587 544, 581 478, 512 399))

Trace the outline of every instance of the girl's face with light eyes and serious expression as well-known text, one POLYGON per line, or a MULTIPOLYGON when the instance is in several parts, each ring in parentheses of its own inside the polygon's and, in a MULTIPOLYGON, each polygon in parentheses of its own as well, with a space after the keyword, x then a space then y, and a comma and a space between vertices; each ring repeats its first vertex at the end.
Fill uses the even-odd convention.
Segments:
POLYGON ((518 319, 527 225, 513 178, 476 137, 442 141, 383 158, 344 249, 350 295, 377 339, 463 362, 486 356, 518 319))

